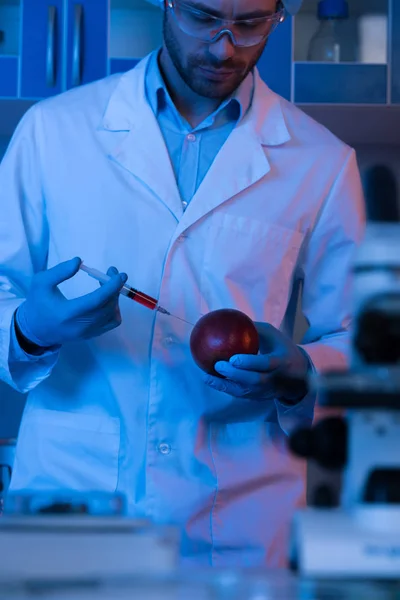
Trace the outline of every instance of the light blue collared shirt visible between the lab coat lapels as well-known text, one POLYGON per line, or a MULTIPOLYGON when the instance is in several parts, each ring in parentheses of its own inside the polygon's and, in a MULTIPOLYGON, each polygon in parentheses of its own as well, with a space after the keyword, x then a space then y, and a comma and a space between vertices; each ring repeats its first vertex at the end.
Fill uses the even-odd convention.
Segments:
POLYGON ((235 126, 249 110, 254 78, 249 73, 235 93, 197 127, 175 107, 154 53, 146 73, 147 100, 157 117, 185 209, 235 126))

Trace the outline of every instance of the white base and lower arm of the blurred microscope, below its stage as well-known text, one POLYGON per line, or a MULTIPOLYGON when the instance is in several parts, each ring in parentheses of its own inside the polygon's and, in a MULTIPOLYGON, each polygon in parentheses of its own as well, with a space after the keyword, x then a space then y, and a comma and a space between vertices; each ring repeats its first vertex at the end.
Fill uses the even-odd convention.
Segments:
MULTIPOLYGON (((335 420, 339 417, 316 426, 321 436, 335 420)), ((347 435, 340 436, 337 448, 337 456, 346 454, 340 506, 296 513, 291 567, 312 578, 399 579, 400 410, 354 408, 344 423, 347 435)), ((332 454, 334 443, 332 438, 332 454)), ((315 450, 318 457, 318 446, 315 450)))

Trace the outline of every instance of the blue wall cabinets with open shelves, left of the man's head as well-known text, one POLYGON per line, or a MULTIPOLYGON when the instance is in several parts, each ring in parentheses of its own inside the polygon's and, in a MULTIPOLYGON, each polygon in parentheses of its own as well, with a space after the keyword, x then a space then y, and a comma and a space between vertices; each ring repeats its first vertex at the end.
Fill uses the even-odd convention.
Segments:
POLYGON ((0 0, 0 98, 39 100, 133 67, 161 44, 145 0, 0 0))

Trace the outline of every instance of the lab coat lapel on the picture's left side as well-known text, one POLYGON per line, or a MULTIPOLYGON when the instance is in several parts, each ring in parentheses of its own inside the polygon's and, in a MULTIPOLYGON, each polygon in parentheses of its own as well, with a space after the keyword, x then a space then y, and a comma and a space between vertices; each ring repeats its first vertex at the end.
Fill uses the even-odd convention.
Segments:
POLYGON ((111 96, 103 126, 126 131, 110 158, 140 179, 179 221, 182 202, 157 119, 147 102, 145 75, 149 58, 123 75, 111 96))

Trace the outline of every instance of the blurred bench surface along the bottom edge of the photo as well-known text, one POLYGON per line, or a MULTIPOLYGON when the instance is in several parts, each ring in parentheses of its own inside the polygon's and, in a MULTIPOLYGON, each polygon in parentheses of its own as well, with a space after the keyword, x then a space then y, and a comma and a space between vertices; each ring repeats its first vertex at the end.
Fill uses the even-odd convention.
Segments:
POLYGON ((285 571, 185 571, 100 582, 0 586, 0 600, 399 600, 399 582, 311 581, 285 571))

